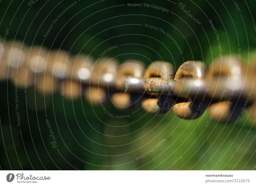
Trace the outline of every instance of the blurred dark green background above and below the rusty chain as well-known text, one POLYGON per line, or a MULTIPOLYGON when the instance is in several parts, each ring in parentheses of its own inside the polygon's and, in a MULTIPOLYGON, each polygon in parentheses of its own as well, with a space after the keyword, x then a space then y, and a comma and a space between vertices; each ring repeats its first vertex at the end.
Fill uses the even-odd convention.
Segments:
MULTIPOLYGON (((169 9, 161 12, 151 7, 127 7, 127 3, 145 1, 81 0, 60 17, 47 38, 44 35, 52 21, 74 1, 38 0, 32 7, 28 2, 0 1, 0 35, 10 28, 8 41, 43 45, 49 50, 61 48, 73 55, 81 52, 94 58, 118 45, 107 55, 120 62, 135 58, 148 66, 151 61, 164 60, 177 69, 187 60, 202 60, 210 65, 218 57, 218 43, 208 22, 212 19, 223 54, 236 55, 241 48, 244 63, 253 62, 256 3, 252 0, 237 1, 241 12, 231 0, 182 1, 201 25, 178 8, 179 1, 147 1, 169 9), (183 54, 166 35, 144 24, 170 33, 183 54)), ((130 118, 113 119, 99 105, 92 106, 85 99, 62 101, 60 93, 44 98, 31 87, 27 95, 19 89, 21 127, 17 127, 15 87, 11 81, 2 81, 0 85, 3 170, 163 170, 179 156, 182 159, 171 169, 251 170, 256 166, 256 130, 248 112, 237 122, 222 124, 212 120, 206 128, 207 112, 197 120, 187 121, 175 116, 172 110, 165 116, 152 116, 139 106, 119 111, 107 104, 108 111, 114 114, 136 111, 130 118), (50 144, 46 114, 58 143, 55 149, 50 144), (166 141, 155 151, 135 160, 164 138, 166 141)))

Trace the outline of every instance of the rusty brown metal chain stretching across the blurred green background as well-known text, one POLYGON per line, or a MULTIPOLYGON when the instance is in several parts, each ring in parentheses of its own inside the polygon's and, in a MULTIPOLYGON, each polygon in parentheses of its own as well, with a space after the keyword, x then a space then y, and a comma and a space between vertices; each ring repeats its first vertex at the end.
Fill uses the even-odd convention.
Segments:
POLYGON ((237 56, 218 58, 210 67, 202 61, 187 61, 176 73, 164 61, 145 69, 138 60, 118 65, 113 58, 68 56, 62 50, 49 52, 8 42, 2 51, 0 80, 9 78, 23 89, 35 85, 44 94, 59 91, 68 99, 84 95, 94 105, 100 97, 118 109, 141 104, 146 112, 161 115, 172 108, 187 120, 200 117, 207 108, 221 122, 239 119, 247 108, 256 118, 256 66, 245 66, 237 56))

